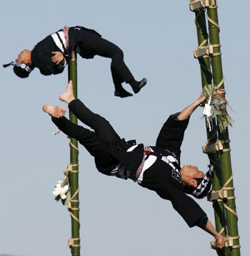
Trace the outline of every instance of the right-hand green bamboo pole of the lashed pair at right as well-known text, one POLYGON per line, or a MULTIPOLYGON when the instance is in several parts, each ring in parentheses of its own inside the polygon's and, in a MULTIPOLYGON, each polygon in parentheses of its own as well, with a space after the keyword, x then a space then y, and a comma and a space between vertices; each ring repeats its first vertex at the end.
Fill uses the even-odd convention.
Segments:
MULTIPOLYGON (((210 5, 214 4, 216 5, 216 0, 209 1, 210 5)), ((209 21, 209 37, 210 37, 210 44, 220 44, 219 41, 219 22, 218 22, 218 13, 217 9, 208 9, 207 11, 208 19, 211 19, 211 22, 209 21), (218 26, 216 26, 218 24, 218 26)), ((221 47, 214 47, 214 53, 221 52, 221 47)), ((211 57, 211 66, 213 70, 213 79, 214 79, 214 85, 219 85, 221 80, 223 79, 223 71, 222 71, 222 63, 221 63, 221 55, 216 55, 211 57)), ((224 88, 224 84, 221 85, 221 89, 224 88)), ((226 181, 229 180, 232 174, 231 170, 231 156, 229 151, 229 132, 226 129, 223 133, 219 131, 219 139, 221 141, 226 141, 224 143, 224 148, 228 149, 228 151, 224 151, 221 154, 221 170, 222 170, 222 182, 223 184, 226 183, 226 181)), ((229 183, 228 187, 234 187, 233 180, 229 183)), ((229 190, 228 196, 234 196, 234 191, 229 190)), ((229 199, 226 202, 226 206, 231 208, 234 212, 236 212, 236 204, 234 199, 229 199)), ((226 210, 226 225, 227 225, 227 232, 230 237, 237 237, 239 235, 238 232, 238 218, 231 213, 229 210, 226 210)), ((239 239, 234 240, 234 245, 239 245, 239 239)), ((230 252, 230 256, 238 256, 240 255, 240 249, 234 248, 230 252)))

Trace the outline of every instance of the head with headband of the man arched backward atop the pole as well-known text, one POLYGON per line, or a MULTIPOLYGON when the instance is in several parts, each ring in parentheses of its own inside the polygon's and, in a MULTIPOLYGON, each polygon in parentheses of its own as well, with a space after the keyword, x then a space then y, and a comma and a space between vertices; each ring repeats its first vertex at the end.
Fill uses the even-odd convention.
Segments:
POLYGON ((31 65, 31 51, 29 51, 29 49, 24 49, 18 54, 16 61, 10 62, 9 64, 4 65, 4 67, 9 67, 10 65, 14 66, 13 71, 18 77, 29 77, 29 73, 34 68, 31 65))

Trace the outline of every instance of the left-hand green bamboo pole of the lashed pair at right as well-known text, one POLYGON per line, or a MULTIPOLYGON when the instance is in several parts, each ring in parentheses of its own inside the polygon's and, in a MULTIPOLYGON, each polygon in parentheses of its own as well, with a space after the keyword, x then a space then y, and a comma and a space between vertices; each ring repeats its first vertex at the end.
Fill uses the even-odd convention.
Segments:
MULTIPOLYGON (((205 11, 196 11, 195 12, 195 24, 196 24, 196 31, 197 31, 197 38, 198 43, 201 45, 203 43, 204 47, 207 46, 207 41, 204 43, 204 40, 208 39, 207 29, 206 29, 206 17, 205 11)), ((212 83, 212 75, 211 75, 211 67, 209 58, 199 58, 199 63, 201 65, 201 83, 202 87, 205 85, 209 85, 212 83)), ((217 125, 216 121, 213 120, 213 129, 209 132, 209 129, 206 128, 207 138, 209 141, 215 142, 218 138, 217 136, 217 125)), ((220 190, 221 189, 221 166, 219 162, 218 153, 209 153, 209 161, 211 164, 214 165, 214 178, 213 178, 213 190, 220 190)), ((216 225, 216 230, 219 232, 223 227, 226 225, 225 213, 224 213, 224 206, 222 202, 213 202, 214 208, 214 221, 216 225)), ((226 235, 225 232, 221 233, 223 236, 226 235)))

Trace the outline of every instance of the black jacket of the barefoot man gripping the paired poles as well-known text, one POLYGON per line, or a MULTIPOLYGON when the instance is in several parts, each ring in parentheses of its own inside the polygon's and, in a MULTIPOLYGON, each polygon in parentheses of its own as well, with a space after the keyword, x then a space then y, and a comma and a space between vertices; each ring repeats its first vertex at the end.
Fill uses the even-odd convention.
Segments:
MULTIPOLYGON (((180 156, 181 143, 189 119, 178 120, 176 119, 178 114, 171 115, 161 128, 156 146, 151 147, 154 152, 147 156, 147 158, 153 156, 156 161, 146 169, 140 185, 156 191, 161 198, 170 200, 174 209, 189 227, 194 227, 201 218, 206 217, 206 213, 194 199, 184 193, 180 174, 180 156)), ((131 171, 130 179, 134 179, 133 174, 141 164, 143 154, 143 144, 139 144, 131 152, 111 153, 117 161, 131 171)))

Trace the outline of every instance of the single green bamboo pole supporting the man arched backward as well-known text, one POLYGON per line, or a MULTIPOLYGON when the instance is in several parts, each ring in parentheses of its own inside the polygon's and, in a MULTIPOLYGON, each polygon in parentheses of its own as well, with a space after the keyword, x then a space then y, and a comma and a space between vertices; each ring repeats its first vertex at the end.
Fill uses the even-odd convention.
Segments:
MULTIPOLYGON (((69 61, 69 80, 73 82, 74 97, 77 98, 77 65, 76 65, 76 53, 71 52, 69 61)), ((72 123, 77 124, 77 118, 73 113, 69 113, 69 119, 72 123)), ((79 222, 79 173, 78 173, 78 142, 76 139, 71 138, 70 146, 70 163, 72 164, 72 170, 70 175, 70 187, 71 187, 71 237, 74 240, 74 245, 71 247, 72 256, 80 256, 80 222, 79 222), (74 196, 75 194, 75 196, 74 196), (74 196, 74 198, 72 198, 74 196)))

